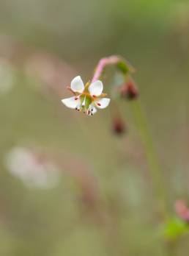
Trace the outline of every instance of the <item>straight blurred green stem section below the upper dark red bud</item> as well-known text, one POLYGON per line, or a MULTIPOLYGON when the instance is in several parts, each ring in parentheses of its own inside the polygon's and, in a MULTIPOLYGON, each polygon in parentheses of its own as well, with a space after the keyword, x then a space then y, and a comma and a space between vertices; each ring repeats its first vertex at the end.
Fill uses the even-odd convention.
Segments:
POLYGON ((165 218, 168 218, 168 199, 163 181, 163 170, 157 157, 152 134, 148 127, 147 118, 141 107, 141 102, 139 101, 139 99, 133 101, 131 103, 131 107, 138 128, 138 133, 141 137, 141 141, 144 145, 144 149, 146 152, 150 175, 152 177, 152 182, 155 187, 155 193, 157 198, 160 200, 160 203, 162 203, 163 214, 165 218))

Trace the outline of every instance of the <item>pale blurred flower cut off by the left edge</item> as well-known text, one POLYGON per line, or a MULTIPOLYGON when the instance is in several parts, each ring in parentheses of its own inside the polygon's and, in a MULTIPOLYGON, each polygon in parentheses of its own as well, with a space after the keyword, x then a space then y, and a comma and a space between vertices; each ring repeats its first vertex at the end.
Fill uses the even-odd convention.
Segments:
POLYGON ((15 74, 6 60, 0 59, 0 94, 9 93, 15 84, 15 74))

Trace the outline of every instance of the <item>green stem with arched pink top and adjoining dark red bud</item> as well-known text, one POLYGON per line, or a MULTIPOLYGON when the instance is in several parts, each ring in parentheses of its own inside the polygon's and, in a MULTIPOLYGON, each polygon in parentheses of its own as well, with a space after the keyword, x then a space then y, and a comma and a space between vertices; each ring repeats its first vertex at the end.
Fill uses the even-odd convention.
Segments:
POLYGON ((168 203, 166 189, 163 184, 163 170, 157 157, 152 134, 147 124, 147 118, 145 117, 141 103, 138 100, 138 89, 136 88, 136 84, 131 77, 131 74, 135 71, 135 69, 122 57, 115 55, 105 57, 97 64, 97 68, 94 71, 94 76, 92 77, 92 82, 95 82, 97 79, 102 77, 103 72, 108 65, 116 66, 117 70, 123 75, 125 83, 119 90, 119 95, 121 98, 133 100, 131 104, 133 117, 135 118, 138 133, 141 137, 141 141, 146 152, 149 172, 155 187, 155 193, 159 199, 159 202, 162 204, 164 216, 168 217, 168 203))

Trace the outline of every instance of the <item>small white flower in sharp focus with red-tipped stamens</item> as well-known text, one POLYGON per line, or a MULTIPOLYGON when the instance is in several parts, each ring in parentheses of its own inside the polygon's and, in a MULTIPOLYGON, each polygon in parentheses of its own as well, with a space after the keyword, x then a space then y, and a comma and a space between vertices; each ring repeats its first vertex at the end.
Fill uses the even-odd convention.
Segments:
POLYGON ((110 99, 104 98, 106 96, 103 93, 103 82, 97 80, 89 82, 84 85, 81 77, 75 77, 70 87, 68 87, 74 94, 73 97, 62 99, 62 103, 66 107, 73 108, 78 111, 83 111, 86 115, 94 115, 97 112, 97 108, 103 109, 108 107, 110 99))

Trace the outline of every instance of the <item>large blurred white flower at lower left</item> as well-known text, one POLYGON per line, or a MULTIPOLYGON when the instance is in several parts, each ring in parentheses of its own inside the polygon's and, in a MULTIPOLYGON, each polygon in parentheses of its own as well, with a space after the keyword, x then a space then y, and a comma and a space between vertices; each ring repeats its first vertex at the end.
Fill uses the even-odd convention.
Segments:
POLYGON ((59 168, 31 149, 15 147, 5 157, 7 169, 30 188, 53 188, 59 182, 59 168))

